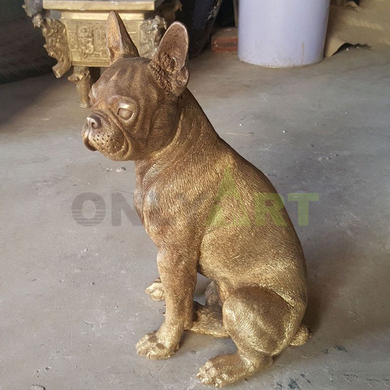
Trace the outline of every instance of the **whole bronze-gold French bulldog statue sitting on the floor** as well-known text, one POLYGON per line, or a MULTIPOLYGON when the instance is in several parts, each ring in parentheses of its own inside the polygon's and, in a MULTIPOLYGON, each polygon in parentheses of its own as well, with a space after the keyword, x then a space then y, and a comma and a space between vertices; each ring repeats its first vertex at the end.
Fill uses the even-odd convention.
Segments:
POLYGON ((166 302, 164 323, 137 353, 170 357, 185 330, 230 336, 237 351, 197 374, 225 386, 308 339, 301 244, 283 204, 271 207, 271 182, 218 137, 186 88, 185 26, 171 24, 149 60, 111 12, 107 47, 111 65, 92 87, 82 137, 112 160, 135 160, 135 208, 158 248, 159 278, 146 292, 166 302), (205 305, 193 301, 197 272, 211 279, 205 305))

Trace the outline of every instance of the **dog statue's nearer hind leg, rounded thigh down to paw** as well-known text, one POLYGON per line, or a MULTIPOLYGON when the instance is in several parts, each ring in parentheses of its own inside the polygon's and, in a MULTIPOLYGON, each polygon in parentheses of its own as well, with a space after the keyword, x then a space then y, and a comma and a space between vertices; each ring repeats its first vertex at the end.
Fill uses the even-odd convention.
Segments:
POLYGON ((269 367, 273 356, 285 349, 297 332, 302 306, 294 309, 263 287, 230 292, 222 308, 223 325, 237 352, 208 360, 197 378, 203 384, 222 387, 269 367))

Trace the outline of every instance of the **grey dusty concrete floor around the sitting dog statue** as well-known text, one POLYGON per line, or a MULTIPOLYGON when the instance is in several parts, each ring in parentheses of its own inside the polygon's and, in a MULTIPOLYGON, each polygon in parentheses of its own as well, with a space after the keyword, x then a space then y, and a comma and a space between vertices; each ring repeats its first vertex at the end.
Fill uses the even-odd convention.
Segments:
MULTIPOLYGON (((390 53, 365 48, 301 69, 209 52, 191 61, 189 88, 218 133, 282 195, 319 194, 308 227, 287 202, 313 337, 231 389, 390 388, 389 69, 390 53)), ((231 340, 185 334, 164 361, 135 352, 163 305, 143 292, 157 274, 151 240, 124 215, 111 223, 112 194, 132 204, 133 163, 84 147, 88 110, 65 78, 1 85, 0 107, 0 389, 205 389, 197 368, 231 340), (106 204, 97 226, 72 218, 86 192, 106 204)))

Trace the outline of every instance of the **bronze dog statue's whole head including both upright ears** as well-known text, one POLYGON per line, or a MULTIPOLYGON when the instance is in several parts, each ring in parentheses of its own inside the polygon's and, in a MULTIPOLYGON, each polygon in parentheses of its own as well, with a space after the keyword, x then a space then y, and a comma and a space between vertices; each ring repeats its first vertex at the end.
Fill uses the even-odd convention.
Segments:
POLYGON ((111 64, 92 86, 82 138, 115 161, 146 158, 175 136, 189 78, 188 33, 172 23, 152 60, 139 57, 116 12, 108 16, 106 37, 111 64))

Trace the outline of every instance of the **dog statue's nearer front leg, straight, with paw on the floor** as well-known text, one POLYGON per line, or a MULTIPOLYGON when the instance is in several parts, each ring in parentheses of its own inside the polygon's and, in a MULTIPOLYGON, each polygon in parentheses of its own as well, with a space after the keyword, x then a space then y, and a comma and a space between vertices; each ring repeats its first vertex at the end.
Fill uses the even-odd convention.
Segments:
POLYGON ((165 291, 165 321, 158 331, 146 334, 137 343, 137 353, 149 359, 170 357, 179 348, 183 331, 192 326, 197 257, 191 251, 184 252, 177 247, 158 251, 158 272, 165 291))

